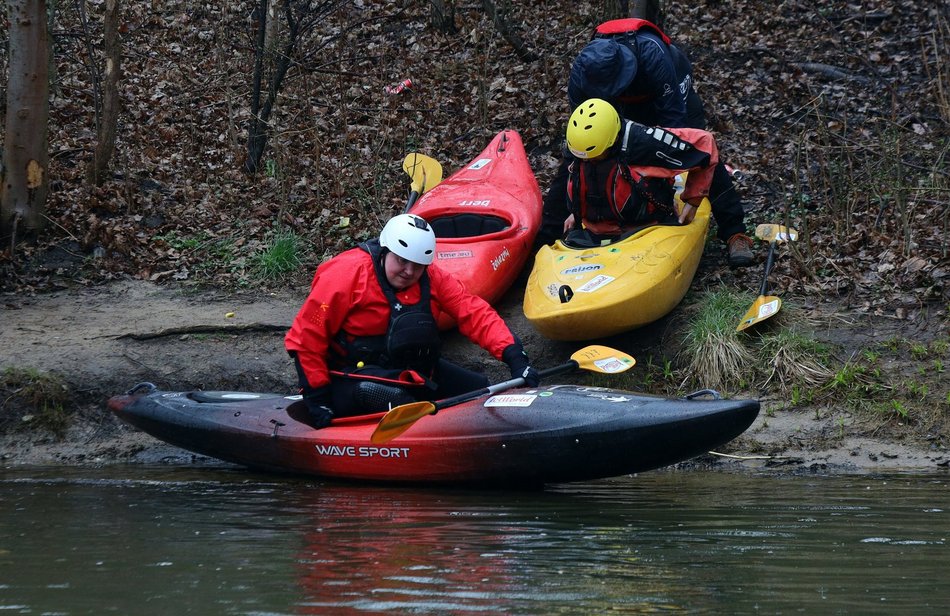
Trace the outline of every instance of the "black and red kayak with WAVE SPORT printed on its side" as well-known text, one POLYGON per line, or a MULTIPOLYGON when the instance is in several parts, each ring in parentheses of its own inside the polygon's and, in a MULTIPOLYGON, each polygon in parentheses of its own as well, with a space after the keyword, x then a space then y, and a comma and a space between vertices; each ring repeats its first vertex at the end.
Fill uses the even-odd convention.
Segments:
POLYGON ((740 435, 757 400, 711 390, 660 398, 601 387, 513 389, 452 406, 385 444, 382 413, 317 430, 299 396, 160 391, 109 400, 122 420, 189 451, 254 469, 373 482, 543 485, 675 464, 740 435))

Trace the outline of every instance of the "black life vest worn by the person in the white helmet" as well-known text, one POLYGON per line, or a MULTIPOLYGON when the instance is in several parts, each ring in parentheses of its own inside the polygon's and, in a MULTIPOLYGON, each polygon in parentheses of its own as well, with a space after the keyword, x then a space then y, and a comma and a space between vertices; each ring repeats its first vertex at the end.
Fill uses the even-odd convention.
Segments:
POLYGON ((333 345, 335 367, 344 372, 373 366, 431 375, 439 359, 441 341, 432 314, 428 272, 423 272, 419 279, 419 301, 406 305, 396 298, 396 291, 386 280, 379 240, 363 242, 359 247, 372 257, 376 279, 389 301, 389 325, 381 336, 353 336, 341 331, 333 345))

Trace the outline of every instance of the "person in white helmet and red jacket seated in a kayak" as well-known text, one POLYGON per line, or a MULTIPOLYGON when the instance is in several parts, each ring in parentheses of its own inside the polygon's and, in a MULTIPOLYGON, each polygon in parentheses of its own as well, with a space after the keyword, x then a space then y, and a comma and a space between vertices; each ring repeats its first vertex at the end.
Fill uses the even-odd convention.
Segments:
POLYGON ((333 417, 384 411, 488 386, 483 375, 440 357, 436 320, 501 359, 512 378, 536 387, 538 373, 504 320, 445 274, 435 233, 413 214, 394 216, 378 239, 322 263, 284 345, 316 427, 333 417))

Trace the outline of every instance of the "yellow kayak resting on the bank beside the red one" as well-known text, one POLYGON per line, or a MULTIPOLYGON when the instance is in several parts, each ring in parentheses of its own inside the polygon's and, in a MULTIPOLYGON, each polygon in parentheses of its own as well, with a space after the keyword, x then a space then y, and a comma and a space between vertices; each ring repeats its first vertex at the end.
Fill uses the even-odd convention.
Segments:
POLYGON ((557 240, 534 259, 524 313, 553 340, 591 340, 652 323, 686 295, 709 228, 704 200, 688 225, 654 225, 605 246, 557 240))

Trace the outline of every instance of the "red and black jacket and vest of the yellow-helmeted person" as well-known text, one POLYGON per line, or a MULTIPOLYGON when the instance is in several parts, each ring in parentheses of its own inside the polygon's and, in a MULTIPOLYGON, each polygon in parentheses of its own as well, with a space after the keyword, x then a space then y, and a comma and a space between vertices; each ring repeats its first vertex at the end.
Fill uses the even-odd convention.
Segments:
POLYGON ((718 162, 715 139, 707 131, 624 120, 606 156, 570 164, 567 205, 574 226, 619 235, 635 226, 675 222, 672 178, 689 171, 680 197, 699 207, 709 196, 718 162))

